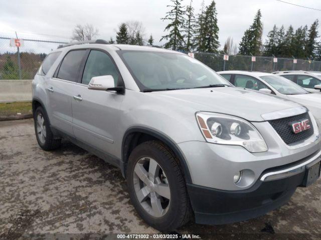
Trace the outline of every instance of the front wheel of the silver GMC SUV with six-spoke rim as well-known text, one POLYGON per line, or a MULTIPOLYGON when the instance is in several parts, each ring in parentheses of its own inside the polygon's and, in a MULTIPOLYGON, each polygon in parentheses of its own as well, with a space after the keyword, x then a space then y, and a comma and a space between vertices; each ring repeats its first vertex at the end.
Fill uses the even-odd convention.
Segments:
POLYGON ((126 176, 131 202, 150 226, 166 232, 189 221, 191 207, 181 168, 161 142, 136 146, 129 156, 126 176))

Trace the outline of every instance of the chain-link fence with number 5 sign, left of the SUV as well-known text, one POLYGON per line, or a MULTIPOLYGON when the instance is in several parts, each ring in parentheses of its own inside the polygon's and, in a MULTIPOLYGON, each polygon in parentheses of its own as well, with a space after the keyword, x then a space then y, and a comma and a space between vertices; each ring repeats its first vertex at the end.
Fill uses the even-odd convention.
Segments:
POLYGON ((68 43, 51 39, 22 38, 21 46, 17 47, 12 40, 15 38, 0 36, 0 80, 33 79, 46 55, 59 45, 68 43))

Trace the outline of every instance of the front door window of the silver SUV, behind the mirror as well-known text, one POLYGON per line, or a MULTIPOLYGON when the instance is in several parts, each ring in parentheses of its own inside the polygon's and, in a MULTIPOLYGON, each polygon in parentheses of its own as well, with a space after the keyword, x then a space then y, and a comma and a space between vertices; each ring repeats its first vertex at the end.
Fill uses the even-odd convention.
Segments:
POLYGON ((115 86, 118 80, 118 71, 111 58, 102 51, 91 50, 85 65, 81 83, 88 84, 93 76, 112 75, 115 86))

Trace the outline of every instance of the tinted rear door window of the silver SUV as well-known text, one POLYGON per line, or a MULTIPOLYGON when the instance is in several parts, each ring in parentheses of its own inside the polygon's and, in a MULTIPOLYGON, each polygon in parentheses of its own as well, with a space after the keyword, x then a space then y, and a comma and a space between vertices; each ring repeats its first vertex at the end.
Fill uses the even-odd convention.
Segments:
POLYGON ((62 60, 57 78, 69 81, 77 81, 80 64, 85 54, 85 49, 69 51, 62 60))

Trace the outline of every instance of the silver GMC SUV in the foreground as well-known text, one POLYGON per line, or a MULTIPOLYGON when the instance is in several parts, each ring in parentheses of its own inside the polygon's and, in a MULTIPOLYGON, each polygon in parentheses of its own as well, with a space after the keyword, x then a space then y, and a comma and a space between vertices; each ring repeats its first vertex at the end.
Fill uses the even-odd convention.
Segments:
POLYGON ((151 226, 256 217, 319 177, 307 108, 234 87, 184 53, 106 43, 46 57, 33 80, 36 136, 44 150, 66 138, 118 166, 151 226))

